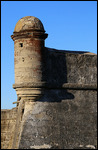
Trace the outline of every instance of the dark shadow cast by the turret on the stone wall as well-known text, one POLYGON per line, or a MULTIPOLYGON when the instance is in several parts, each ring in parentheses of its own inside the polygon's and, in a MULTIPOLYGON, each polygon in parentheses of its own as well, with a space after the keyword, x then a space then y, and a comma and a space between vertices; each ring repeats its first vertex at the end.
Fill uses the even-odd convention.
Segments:
POLYGON ((67 83, 66 55, 45 48, 42 56, 42 81, 45 82, 45 89, 37 101, 61 102, 74 99, 74 95, 66 89, 58 88, 67 83))

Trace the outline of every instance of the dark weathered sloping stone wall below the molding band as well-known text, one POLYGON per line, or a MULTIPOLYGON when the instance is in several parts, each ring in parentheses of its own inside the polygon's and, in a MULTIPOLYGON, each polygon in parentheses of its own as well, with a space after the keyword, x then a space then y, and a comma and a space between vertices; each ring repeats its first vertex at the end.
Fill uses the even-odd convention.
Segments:
POLYGON ((26 102, 19 149, 96 147, 96 91, 68 90, 59 100, 57 93, 48 90, 37 102, 26 102))

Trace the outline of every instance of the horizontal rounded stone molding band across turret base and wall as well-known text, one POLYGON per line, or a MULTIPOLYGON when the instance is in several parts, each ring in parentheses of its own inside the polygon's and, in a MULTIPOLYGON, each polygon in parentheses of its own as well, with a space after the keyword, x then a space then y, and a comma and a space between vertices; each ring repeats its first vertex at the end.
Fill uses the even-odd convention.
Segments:
POLYGON ((97 84, 64 83, 63 85, 39 83, 13 84, 13 88, 46 88, 46 89, 73 89, 73 90, 97 90, 97 84))

